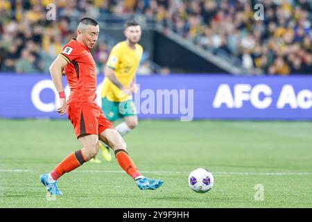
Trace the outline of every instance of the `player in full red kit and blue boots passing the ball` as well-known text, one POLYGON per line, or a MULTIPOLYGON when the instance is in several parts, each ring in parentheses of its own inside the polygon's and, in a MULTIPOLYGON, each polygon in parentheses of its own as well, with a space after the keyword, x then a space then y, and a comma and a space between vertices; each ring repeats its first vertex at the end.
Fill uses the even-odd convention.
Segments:
POLYGON ((126 151, 123 137, 96 104, 96 65, 89 50, 96 44, 99 32, 98 23, 94 19, 81 19, 77 39, 64 46, 50 67, 53 83, 60 95, 60 108, 57 111, 61 115, 67 112, 78 141, 83 146, 69 154, 53 171, 40 176, 42 184, 53 195, 62 195, 57 185, 58 178, 80 167, 98 153, 99 139, 114 150, 117 162, 136 181, 139 189, 157 189, 163 184, 162 180, 149 179, 139 173, 126 151), (67 102, 62 85, 63 69, 71 89, 67 102))

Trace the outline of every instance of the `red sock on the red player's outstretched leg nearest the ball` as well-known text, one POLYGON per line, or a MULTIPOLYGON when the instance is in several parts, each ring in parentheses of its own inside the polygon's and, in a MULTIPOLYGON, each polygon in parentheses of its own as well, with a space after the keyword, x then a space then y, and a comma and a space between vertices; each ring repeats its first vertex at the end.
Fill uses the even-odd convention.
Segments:
POLYGON ((141 173, 137 171, 137 166, 135 166, 135 163, 128 155, 127 151, 119 149, 115 151, 115 155, 117 162, 119 163, 120 167, 125 171, 125 173, 128 173, 128 175, 131 176, 133 179, 135 179, 137 176, 141 176, 141 173))

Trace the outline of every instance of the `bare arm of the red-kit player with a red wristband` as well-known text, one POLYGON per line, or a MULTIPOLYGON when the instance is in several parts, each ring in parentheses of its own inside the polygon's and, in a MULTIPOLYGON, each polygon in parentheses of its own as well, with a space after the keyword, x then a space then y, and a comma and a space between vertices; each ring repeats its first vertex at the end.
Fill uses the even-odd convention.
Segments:
POLYGON ((67 65, 67 63, 67 60, 62 58, 62 56, 58 56, 57 58, 55 58, 51 67, 49 68, 55 89, 58 91, 59 94, 61 93, 60 108, 56 110, 61 115, 64 115, 66 112, 66 98, 61 95, 64 94, 64 87, 62 83, 62 70, 64 69, 65 65, 67 65))

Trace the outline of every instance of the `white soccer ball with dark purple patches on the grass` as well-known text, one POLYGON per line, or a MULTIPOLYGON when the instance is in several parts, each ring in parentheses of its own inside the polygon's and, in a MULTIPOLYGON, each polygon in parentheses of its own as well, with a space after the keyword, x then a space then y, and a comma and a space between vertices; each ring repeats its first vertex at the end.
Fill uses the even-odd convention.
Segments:
POLYGON ((189 173, 189 187, 197 193, 206 193, 214 186, 214 176, 205 168, 194 169, 189 173))

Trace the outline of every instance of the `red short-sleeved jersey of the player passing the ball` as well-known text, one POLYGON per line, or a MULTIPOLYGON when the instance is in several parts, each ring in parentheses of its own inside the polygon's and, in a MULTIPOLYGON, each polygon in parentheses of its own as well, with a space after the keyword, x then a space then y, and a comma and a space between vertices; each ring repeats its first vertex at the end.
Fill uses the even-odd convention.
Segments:
POLYGON ((76 39, 69 41, 60 53, 68 64, 64 67, 71 94, 69 103, 96 104, 96 64, 87 46, 76 39))

